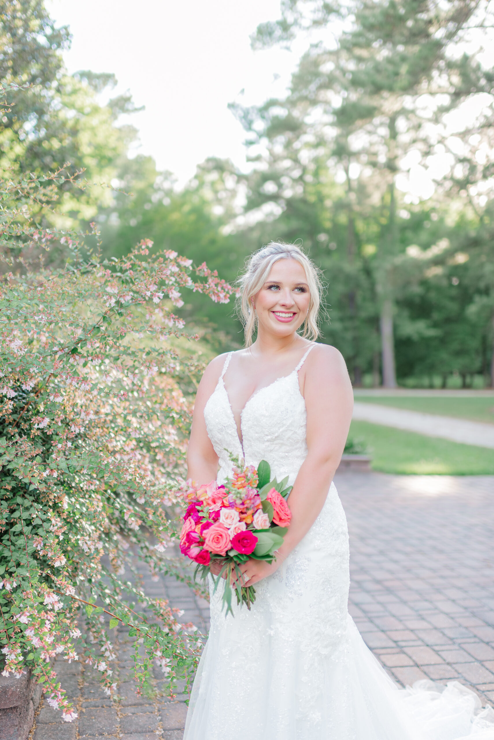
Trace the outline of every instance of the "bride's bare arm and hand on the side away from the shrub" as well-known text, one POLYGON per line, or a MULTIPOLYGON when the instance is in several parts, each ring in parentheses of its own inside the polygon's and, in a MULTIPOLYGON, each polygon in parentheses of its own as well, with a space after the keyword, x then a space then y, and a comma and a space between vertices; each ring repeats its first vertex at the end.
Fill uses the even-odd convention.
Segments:
POLYGON ((324 505, 345 448, 353 410, 345 360, 334 347, 319 345, 305 365, 308 454, 288 498, 291 524, 274 563, 251 559, 242 568, 250 576, 246 585, 274 573, 308 533, 324 505))

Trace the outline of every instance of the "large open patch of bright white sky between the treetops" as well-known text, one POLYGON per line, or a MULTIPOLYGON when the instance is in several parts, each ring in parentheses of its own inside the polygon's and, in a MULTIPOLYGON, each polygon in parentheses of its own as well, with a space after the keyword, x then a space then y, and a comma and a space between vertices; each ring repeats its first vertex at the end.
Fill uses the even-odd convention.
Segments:
POLYGON ((249 35, 280 17, 280 0, 47 0, 47 9, 70 26, 68 71, 115 73, 112 96, 130 90, 146 106, 129 117, 139 151, 180 183, 210 155, 246 167, 245 132, 227 105, 283 95, 300 55, 251 50, 249 35))

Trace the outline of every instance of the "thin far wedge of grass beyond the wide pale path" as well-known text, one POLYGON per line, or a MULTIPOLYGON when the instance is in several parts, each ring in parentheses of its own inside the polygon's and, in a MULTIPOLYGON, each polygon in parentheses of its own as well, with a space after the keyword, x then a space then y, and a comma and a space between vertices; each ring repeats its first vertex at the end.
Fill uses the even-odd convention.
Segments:
POLYGON ((494 396, 465 397, 451 396, 365 396, 356 395, 356 401, 377 403, 379 406, 406 408, 408 411, 424 411, 471 421, 487 421, 494 424, 494 396))

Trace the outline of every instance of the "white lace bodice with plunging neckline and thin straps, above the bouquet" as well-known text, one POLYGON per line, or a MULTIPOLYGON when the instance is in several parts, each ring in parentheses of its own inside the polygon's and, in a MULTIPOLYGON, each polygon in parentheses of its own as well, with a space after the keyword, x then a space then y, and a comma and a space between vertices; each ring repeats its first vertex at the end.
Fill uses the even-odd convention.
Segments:
POLYGON ((248 399, 240 417, 242 443, 223 382, 233 353, 226 356, 223 372, 204 408, 209 439, 220 458, 219 482, 231 474, 231 452, 234 457, 244 457, 247 465, 257 467, 261 460, 267 460, 271 465, 271 473, 278 480, 288 475, 293 485, 307 455, 307 411, 300 393, 298 373, 313 347, 314 344, 289 375, 260 388, 248 399))

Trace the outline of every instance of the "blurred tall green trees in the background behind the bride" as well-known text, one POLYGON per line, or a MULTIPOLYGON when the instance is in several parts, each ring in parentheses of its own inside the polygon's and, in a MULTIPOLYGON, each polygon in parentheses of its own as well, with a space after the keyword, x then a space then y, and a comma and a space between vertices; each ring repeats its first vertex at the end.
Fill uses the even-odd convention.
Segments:
MULTIPOLYGON (((84 190, 61 184, 59 215, 40 206, 38 218, 81 230, 96 221, 108 257, 150 238, 231 281, 269 240, 302 243, 327 283, 322 341, 342 351, 355 386, 494 386, 494 75, 470 43, 490 3, 281 7, 254 47, 313 36, 285 99, 231 106, 250 171, 209 158, 177 187, 152 158, 129 156, 138 132, 120 116, 135 110, 132 98, 101 103, 113 75, 67 75, 69 29, 42 0, 4 1, 1 81, 33 87, 0 121, 1 166, 84 169, 84 190), (469 107, 478 113, 453 131, 448 121, 469 107), (430 198, 397 187, 410 163, 439 156, 430 198)), ((187 301, 180 311, 208 351, 241 346, 231 305, 187 301)))

